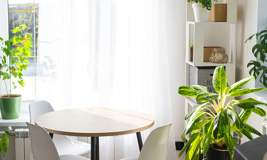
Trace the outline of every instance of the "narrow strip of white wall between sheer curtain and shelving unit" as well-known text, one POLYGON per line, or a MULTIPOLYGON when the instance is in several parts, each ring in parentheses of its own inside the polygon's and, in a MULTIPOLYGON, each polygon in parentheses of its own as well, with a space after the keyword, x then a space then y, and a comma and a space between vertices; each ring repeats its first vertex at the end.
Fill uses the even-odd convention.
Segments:
MULTIPOLYGON (((184 96, 177 93, 185 85, 186 0, 166 0, 166 27, 170 75, 172 119, 175 141, 184 130, 184 96)), ((177 152, 179 154, 179 152, 177 152)), ((183 159, 183 158, 181 158, 183 159)))

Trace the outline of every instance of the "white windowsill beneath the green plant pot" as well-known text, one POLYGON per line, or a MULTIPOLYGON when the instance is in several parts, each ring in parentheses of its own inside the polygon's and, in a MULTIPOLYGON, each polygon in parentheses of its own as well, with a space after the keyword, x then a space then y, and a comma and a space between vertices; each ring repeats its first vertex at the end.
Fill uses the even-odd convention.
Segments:
POLYGON ((26 122, 29 121, 29 113, 20 113, 18 119, 2 119, 0 116, 0 127, 26 127, 26 122))

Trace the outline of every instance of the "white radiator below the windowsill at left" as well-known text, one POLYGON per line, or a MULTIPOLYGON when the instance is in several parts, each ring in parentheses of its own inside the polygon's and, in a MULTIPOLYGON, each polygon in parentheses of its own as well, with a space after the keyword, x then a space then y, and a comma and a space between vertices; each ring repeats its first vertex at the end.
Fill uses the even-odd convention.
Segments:
POLYGON ((15 129, 18 138, 15 139, 16 160, 29 160, 31 145, 29 137, 29 129, 15 129))

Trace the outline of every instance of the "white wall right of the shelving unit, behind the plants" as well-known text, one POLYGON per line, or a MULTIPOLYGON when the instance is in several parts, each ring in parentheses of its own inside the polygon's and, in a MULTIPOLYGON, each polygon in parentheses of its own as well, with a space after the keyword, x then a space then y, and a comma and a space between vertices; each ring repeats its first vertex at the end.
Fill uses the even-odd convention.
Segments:
MULTIPOLYGON (((238 0, 238 25, 237 25, 237 71, 236 71, 236 80, 241 80, 246 77, 249 77, 249 70, 247 64, 251 60, 256 60, 252 53, 252 47, 257 43, 256 38, 254 37, 250 43, 244 43, 247 38, 251 35, 261 31, 267 27, 267 20, 259 21, 258 20, 258 2, 259 6, 263 7, 263 10, 260 11, 259 15, 263 15, 267 18, 266 15, 266 6, 267 0, 238 0), (263 4, 265 3, 265 4, 263 4), (259 28, 258 28, 259 24, 259 28), (258 30, 259 29, 259 30, 258 30)), ((247 83, 244 88, 255 87, 255 80, 251 80, 247 83)), ((249 96, 243 96, 241 99, 247 99, 249 96)), ((267 107, 263 106, 263 109, 267 111, 267 107)), ((262 133, 262 122, 263 117, 252 113, 251 117, 247 123, 257 129, 262 133)), ((254 138, 258 137, 255 134, 252 134, 254 138)), ((249 141, 247 137, 243 137, 241 143, 249 141)))

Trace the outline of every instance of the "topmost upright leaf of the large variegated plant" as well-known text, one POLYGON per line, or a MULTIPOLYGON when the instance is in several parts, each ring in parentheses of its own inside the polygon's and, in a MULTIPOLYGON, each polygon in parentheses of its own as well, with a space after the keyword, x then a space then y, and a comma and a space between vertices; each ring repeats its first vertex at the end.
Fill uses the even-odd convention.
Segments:
POLYGON ((222 95, 224 90, 226 89, 227 82, 226 82, 226 75, 223 66, 216 67, 214 74, 213 74, 213 87, 214 89, 222 95))

